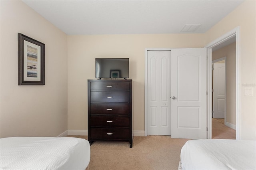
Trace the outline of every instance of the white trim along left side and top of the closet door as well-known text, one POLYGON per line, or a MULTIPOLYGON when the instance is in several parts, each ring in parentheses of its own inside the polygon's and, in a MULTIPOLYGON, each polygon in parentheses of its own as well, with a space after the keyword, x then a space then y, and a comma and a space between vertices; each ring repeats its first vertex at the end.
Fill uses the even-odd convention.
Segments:
POLYGON ((145 85, 144 85, 144 93, 145 93, 145 96, 144 96, 144 100, 145 100, 145 104, 144 104, 144 117, 145 117, 145 120, 144 120, 144 124, 145 124, 145 136, 148 136, 148 116, 147 116, 147 113, 148 113, 148 51, 171 51, 171 48, 145 48, 145 85))

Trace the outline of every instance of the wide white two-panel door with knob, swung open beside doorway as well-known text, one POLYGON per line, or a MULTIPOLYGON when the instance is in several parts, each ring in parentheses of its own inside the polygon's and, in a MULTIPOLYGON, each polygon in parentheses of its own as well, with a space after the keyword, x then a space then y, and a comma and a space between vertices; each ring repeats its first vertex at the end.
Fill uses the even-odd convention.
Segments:
POLYGON ((207 138, 206 64, 206 48, 172 49, 172 138, 207 138))

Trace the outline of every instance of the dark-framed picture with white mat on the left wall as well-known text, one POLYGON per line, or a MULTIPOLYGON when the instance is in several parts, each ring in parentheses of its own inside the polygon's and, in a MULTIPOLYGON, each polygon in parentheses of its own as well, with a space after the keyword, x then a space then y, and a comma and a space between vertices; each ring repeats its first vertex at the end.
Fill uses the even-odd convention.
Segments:
POLYGON ((18 85, 44 85, 45 44, 18 34, 18 85))

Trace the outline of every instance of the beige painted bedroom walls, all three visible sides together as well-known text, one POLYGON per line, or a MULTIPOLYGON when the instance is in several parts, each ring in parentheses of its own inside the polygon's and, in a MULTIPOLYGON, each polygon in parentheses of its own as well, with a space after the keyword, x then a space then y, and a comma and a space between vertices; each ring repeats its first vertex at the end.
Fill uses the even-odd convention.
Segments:
POLYGON ((244 2, 205 34, 66 36, 23 2, 0 1, 1 137, 87 130, 87 79, 95 79, 96 57, 130 58, 134 130, 144 130, 144 49, 203 47, 240 26, 240 138, 255 140, 255 3, 244 2), (18 32, 46 44, 45 86, 18 86, 18 32), (244 96, 247 85, 253 97, 244 96))

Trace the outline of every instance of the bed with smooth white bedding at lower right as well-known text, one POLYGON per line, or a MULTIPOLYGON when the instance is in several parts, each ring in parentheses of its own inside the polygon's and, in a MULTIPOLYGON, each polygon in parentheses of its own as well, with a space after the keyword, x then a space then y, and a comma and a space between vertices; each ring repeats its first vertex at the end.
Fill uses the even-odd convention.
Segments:
POLYGON ((255 170, 256 141, 188 140, 181 149, 182 170, 255 170))

